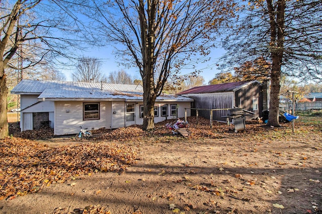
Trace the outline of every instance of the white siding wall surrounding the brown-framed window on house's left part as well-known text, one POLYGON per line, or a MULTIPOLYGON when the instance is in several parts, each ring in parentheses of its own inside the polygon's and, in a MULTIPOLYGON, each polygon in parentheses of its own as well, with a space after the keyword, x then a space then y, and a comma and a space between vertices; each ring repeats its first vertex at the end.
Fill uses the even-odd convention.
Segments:
POLYGON ((111 102, 100 102, 100 120, 83 120, 83 101, 56 101, 54 134, 74 134, 83 128, 100 129, 111 127, 111 102))

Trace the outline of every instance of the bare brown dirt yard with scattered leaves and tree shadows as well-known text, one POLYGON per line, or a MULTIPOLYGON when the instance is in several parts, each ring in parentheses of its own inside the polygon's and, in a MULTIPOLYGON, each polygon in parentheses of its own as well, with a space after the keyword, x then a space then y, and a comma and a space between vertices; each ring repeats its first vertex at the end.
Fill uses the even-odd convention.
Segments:
MULTIPOLYGON (((4 198, 0 212, 322 213, 322 118, 296 121, 294 133, 291 123, 246 128, 233 133, 222 124, 192 124, 190 138, 127 138, 126 129, 121 139, 99 134, 81 143, 133 148, 136 163, 4 198)), ((72 137, 37 142, 50 148, 78 143, 72 137)))

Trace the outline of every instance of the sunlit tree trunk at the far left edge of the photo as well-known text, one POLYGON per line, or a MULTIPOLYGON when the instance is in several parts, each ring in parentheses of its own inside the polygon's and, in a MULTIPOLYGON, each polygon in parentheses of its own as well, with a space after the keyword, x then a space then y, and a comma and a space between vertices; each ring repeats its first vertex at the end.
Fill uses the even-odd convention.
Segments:
POLYGON ((0 139, 8 137, 7 96, 8 87, 3 62, 0 62, 0 139))

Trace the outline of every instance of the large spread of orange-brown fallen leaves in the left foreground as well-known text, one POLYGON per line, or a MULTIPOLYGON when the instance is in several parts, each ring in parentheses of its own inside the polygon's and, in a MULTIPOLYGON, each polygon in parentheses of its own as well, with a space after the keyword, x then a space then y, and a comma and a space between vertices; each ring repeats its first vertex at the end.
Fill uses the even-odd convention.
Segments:
POLYGON ((121 171, 135 163, 136 150, 85 143, 49 148, 21 138, 0 141, 0 199, 37 192, 52 183, 98 171, 121 171))

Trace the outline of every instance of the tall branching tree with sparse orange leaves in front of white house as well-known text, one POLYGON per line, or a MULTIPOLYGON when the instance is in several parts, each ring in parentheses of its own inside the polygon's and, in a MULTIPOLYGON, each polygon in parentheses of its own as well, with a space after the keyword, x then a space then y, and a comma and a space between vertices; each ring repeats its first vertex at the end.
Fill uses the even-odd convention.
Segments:
POLYGON ((94 20, 91 36, 108 40, 121 63, 138 68, 144 89, 143 129, 148 130, 154 128, 155 99, 169 76, 189 59, 209 54, 234 8, 231 0, 114 0, 82 1, 77 10, 94 20))

